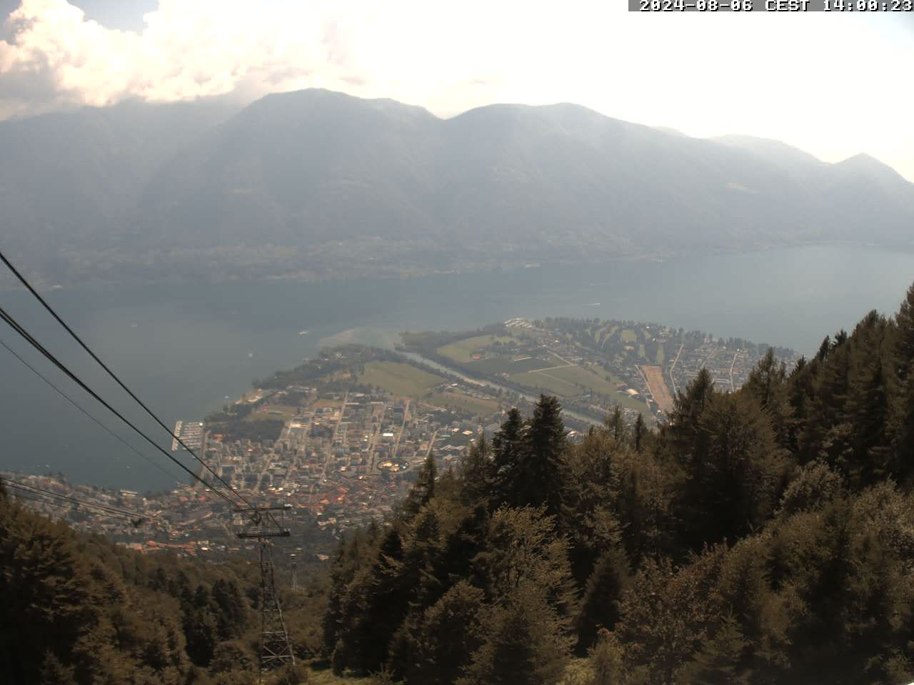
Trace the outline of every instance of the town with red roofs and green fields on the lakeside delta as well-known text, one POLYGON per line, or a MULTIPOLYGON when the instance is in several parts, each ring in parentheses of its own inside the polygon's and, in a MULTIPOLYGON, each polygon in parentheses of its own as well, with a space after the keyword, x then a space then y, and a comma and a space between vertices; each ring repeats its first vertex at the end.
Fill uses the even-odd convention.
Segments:
MULTIPOLYGON (((767 351, 654 324, 572 319, 512 319, 474 332, 404 333, 402 341, 399 352, 324 350, 262 379, 204 421, 178 421, 172 450, 184 450, 183 442, 203 458, 211 472, 198 465, 200 475, 214 489, 221 479, 257 506, 283 507, 290 545, 319 561, 346 529, 394 511, 430 455, 440 473, 459 469, 509 406, 528 413, 538 393, 558 395, 572 440, 616 409, 627 421, 640 413, 662 424, 701 368, 720 389, 734 390, 767 351)), ((793 363, 791 351, 776 352, 793 363)), ((64 515, 139 551, 206 557, 246 546, 234 534, 239 516, 199 484, 140 494, 59 476, 0 476, 135 511, 135 521, 78 505, 64 515)))

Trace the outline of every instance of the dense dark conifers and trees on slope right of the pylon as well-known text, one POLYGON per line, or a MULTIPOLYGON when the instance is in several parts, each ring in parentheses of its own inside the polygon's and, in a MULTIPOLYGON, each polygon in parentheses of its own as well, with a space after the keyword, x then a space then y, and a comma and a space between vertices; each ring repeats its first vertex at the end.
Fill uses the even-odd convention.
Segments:
POLYGON ((543 396, 341 544, 324 654, 423 685, 909 682, 912 456, 914 287, 736 393, 699 374, 659 432, 572 445, 543 396))

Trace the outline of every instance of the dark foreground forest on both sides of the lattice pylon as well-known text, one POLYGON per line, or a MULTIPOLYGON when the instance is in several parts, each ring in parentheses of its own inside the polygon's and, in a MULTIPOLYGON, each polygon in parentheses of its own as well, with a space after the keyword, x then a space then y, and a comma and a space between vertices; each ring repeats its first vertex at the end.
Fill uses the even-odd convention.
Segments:
MULTIPOLYGON (((617 412, 573 443, 544 395, 283 593, 299 664, 267 682, 901 685, 912 457, 914 287, 738 392, 698 374, 657 430, 617 412)), ((0 493, 0 674, 254 682, 247 556, 133 553, 0 493)))

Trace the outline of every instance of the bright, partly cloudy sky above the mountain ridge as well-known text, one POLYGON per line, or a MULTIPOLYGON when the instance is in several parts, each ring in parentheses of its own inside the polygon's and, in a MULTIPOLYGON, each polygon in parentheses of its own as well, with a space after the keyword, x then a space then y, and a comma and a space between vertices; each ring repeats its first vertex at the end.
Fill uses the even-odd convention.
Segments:
POLYGON ((826 162, 868 153, 914 182, 914 12, 0 0, 0 17, 0 119, 311 87, 441 117, 494 102, 575 102, 693 136, 774 138, 826 162))

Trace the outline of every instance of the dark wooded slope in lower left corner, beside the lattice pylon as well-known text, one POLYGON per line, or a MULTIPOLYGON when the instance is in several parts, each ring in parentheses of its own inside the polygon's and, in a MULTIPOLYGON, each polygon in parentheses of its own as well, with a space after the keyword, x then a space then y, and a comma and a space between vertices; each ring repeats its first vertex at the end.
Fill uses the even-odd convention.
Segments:
MULTIPOLYGON (((259 598, 258 569, 243 555, 227 564, 146 556, 0 491, 0 682, 253 685, 259 598)), ((286 603, 300 655, 309 651, 310 601, 286 603)), ((292 668, 266 682, 303 678, 292 668)))

